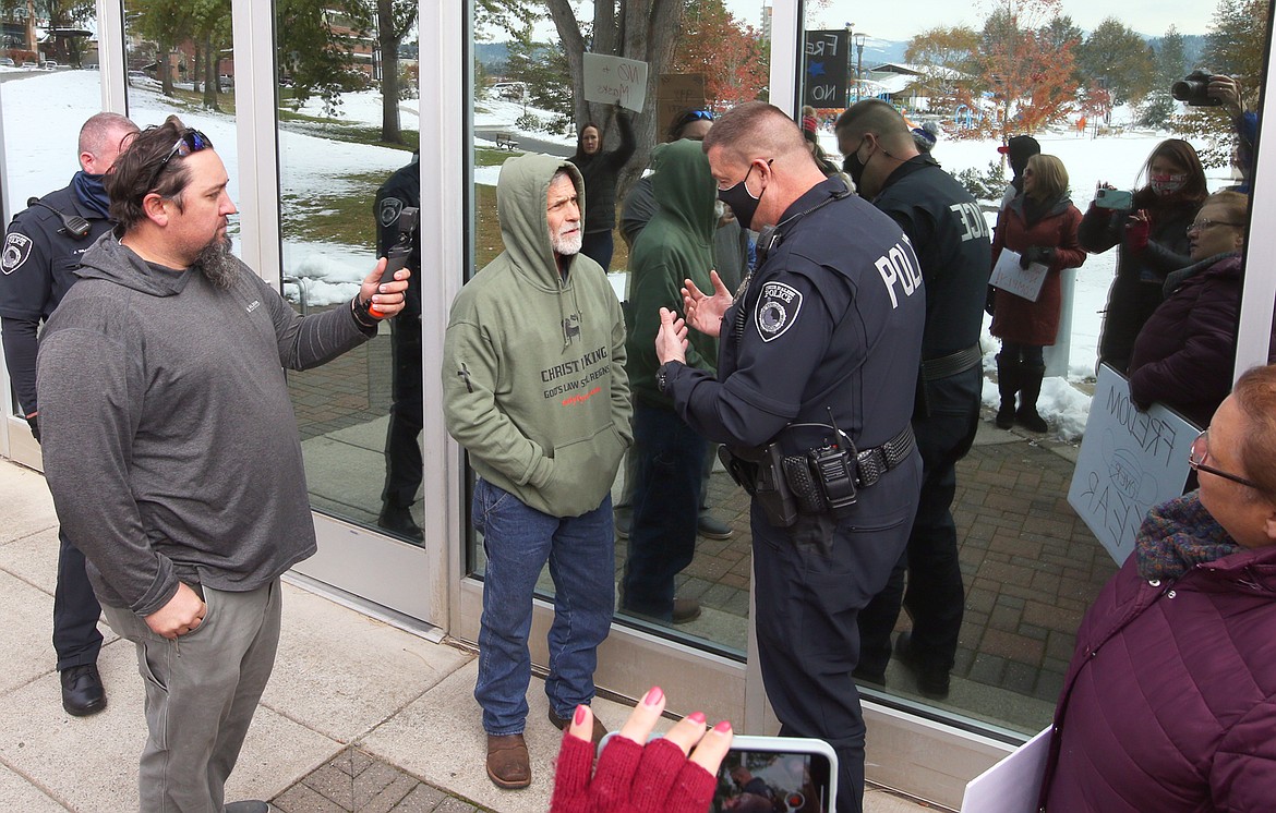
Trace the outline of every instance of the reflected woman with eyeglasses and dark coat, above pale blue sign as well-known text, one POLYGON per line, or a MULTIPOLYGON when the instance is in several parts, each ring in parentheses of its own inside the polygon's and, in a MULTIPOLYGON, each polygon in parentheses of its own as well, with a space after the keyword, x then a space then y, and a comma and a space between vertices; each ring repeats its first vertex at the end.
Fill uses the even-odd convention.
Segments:
POLYGON ((1160 401, 1205 426, 1231 391, 1248 210, 1248 195, 1215 192, 1187 228, 1192 265, 1169 275, 1165 301, 1134 340, 1138 406, 1160 401))

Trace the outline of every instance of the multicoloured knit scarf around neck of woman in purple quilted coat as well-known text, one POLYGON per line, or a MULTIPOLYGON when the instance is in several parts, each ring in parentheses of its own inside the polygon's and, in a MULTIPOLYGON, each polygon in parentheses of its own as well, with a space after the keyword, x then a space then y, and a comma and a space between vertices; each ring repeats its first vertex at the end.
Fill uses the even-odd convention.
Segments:
POLYGON ((1194 491, 1155 506, 1134 538, 1138 575, 1147 580, 1175 580, 1239 549, 1194 491))

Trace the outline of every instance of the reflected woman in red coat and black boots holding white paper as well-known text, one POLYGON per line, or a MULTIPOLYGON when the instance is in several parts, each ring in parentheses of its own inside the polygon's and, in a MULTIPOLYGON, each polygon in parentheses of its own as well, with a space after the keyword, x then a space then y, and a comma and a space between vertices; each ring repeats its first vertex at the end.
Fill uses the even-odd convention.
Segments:
POLYGON ((1048 428, 1036 410, 1045 376, 1041 348, 1054 344, 1059 333, 1063 302, 1059 271, 1086 261, 1086 251, 1077 242, 1079 224, 1081 212, 1068 198, 1068 171, 1063 162, 1054 155, 1032 155, 1023 169, 1023 191, 1002 210, 993 236, 994 266, 1002 250, 1009 248, 1020 254, 1021 268, 1041 263, 1049 269, 1036 302, 997 292, 991 331, 1002 340, 997 356, 997 387, 1002 395, 997 426, 1003 429, 1016 423, 1034 432, 1048 428))

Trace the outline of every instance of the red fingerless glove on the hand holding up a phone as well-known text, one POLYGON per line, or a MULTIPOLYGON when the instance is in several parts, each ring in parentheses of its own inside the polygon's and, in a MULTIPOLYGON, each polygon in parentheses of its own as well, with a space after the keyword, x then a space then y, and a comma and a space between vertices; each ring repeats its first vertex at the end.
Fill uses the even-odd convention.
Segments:
POLYGON ((706 813, 716 777, 661 738, 642 747, 614 737, 590 780, 593 748, 567 734, 559 751, 550 813, 706 813))

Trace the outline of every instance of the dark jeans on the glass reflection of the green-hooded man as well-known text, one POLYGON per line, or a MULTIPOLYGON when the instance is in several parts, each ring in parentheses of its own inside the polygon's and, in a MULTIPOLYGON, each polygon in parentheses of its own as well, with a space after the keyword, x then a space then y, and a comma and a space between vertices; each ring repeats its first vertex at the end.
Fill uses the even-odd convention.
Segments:
POLYGON ((671 621, 674 576, 695 557, 704 438, 672 409, 634 404, 634 449, 624 608, 671 621))

